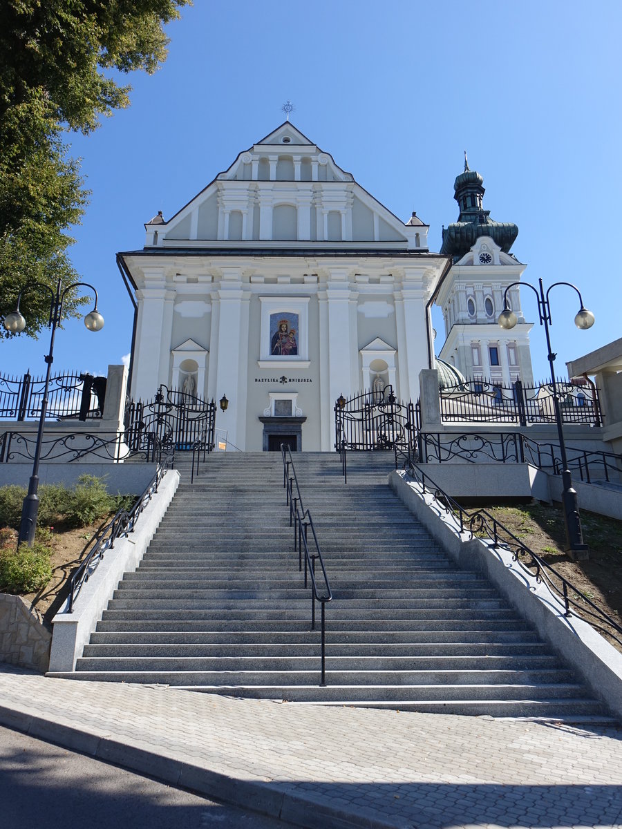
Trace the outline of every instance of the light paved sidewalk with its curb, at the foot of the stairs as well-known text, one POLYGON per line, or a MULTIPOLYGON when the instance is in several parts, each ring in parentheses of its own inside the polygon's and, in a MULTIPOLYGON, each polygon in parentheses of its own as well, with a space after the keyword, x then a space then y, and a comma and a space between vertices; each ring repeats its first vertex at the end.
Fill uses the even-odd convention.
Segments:
POLYGON ((236 700, 0 666, 0 723, 310 829, 620 827, 622 729, 236 700))

